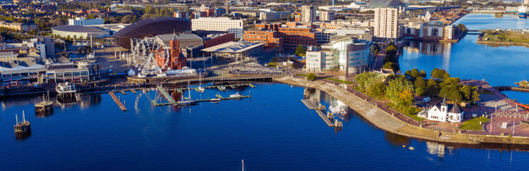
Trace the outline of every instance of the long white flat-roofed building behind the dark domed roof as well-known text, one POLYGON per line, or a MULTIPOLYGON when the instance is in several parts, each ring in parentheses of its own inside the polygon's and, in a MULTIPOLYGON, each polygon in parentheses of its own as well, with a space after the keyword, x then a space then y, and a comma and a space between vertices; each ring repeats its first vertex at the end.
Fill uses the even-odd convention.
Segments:
POLYGON ((193 31, 227 31, 235 33, 235 37, 240 37, 243 33, 243 22, 242 20, 232 20, 232 18, 228 17, 197 18, 191 19, 191 29, 193 31))

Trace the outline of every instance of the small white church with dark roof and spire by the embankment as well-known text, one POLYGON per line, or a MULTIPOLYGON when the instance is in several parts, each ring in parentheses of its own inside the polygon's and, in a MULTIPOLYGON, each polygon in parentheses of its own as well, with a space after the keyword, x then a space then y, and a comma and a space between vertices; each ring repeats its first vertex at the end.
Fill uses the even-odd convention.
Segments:
POLYGON ((426 118, 428 120, 440 122, 461 122, 463 120, 464 111, 457 105, 446 104, 446 98, 442 103, 426 108, 418 113, 418 117, 426 118))

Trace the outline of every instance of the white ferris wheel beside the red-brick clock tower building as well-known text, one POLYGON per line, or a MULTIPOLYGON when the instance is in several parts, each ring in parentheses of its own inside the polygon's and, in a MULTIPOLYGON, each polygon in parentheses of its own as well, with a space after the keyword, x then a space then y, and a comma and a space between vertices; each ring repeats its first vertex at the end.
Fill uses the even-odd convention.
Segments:
POLYGON ((138 67, 138 77, 165 76, 162 69, 167 67, 169 59, 169 48, 151 37, 136 42, 132 49, 132 63, 138 67))

